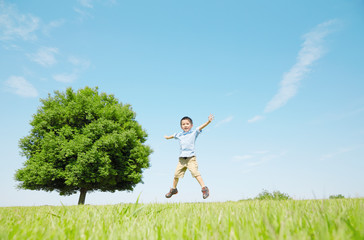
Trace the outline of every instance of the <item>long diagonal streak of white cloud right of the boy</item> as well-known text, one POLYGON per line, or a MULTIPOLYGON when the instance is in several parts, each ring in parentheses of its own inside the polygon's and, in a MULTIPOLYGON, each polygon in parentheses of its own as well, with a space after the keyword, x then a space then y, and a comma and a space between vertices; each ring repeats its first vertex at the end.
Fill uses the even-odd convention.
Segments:
POLYGON ((264 112, 277 110, 297 94, 300 81, 311 70, 312 64, 324 54, 323 40, 332 32, 331 27, 335 24, 335 20, 324 22, 304 35, 305 40, 298 53, 297 62, 283 75, 278 93, 268 102, 264 112))

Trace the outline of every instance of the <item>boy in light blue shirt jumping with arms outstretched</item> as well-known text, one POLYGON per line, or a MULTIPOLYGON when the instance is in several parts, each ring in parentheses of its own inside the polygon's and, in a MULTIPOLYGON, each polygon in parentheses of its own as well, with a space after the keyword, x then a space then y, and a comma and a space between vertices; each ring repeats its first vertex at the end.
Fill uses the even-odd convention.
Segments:
POLYGON ((199 126, 197 129, 191 130, 191 128, 193 127, 192 119, 189 117, 183 117, 180 122, 183 132, 176 133, 171 136, 164 136, 165 139, 178 139, 181 147, 179 162, 174 173, 173 188, 171 188, 170 191, 166 194, 166 198, 170 198, 172 197, 172 195, 178 193, 178 180, 180 178, 183 178, 187 168, 188 170, 190 170, 192 176, 195 177, 198 183, 201 185, 203 199, 206 199, 209 196, 209 189, 205 186, 201 174, 198 171, 198 164, 195 155, 195 141, 197 136, 201 133, 202 129, 209 125, 213 119, 214 116, 210 114, 209 120, 207 122, 199 126))

